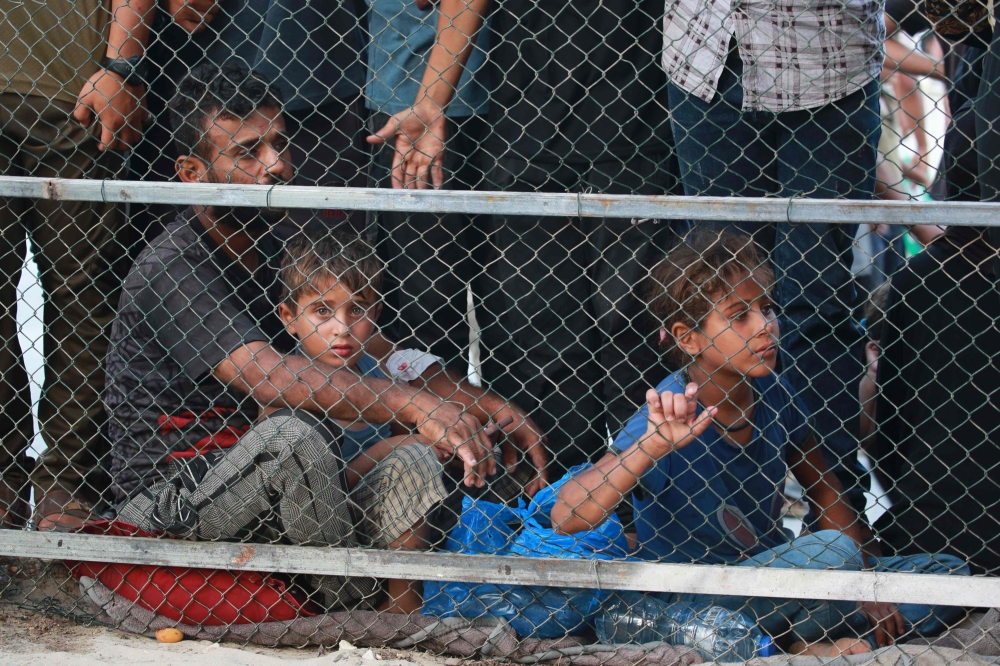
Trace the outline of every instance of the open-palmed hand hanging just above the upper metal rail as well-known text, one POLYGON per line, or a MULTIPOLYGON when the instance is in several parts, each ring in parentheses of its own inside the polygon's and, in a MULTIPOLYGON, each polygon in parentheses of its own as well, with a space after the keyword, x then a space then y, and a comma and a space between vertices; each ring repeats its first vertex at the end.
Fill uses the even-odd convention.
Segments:
POLYGON ((395 189, 425 190, 444 184, 445 117, 440 109, 414 106, 389 118, 368 137, 373 145, 396 137, 392 157, 392 186, 395 189))

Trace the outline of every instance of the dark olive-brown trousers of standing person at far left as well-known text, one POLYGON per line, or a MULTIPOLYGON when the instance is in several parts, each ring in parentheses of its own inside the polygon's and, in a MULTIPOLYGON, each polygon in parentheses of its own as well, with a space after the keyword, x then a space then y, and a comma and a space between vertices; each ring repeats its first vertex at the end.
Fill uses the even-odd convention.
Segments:
MULTIPOLYGON (((121 177, 121 153, 100 152, 69 114, 73 105, 0 94, 0 170, 43 178, 121 177)), ((114 319, 127 257, 114 204, 5 199, 0 222, 0 475, 21 488, 31 474, 36 493, 63 489, 83 499, 103 490, 100 458, 106 333, 114 319), (34 436, 29 378, 17 333, 17 285, 27 244, 38 264, 44 307, 45 379, 38 421, 46 449, 34 471, 26 452, 34 436)), ((38 381, 38 378, 34 378, 38 381)))

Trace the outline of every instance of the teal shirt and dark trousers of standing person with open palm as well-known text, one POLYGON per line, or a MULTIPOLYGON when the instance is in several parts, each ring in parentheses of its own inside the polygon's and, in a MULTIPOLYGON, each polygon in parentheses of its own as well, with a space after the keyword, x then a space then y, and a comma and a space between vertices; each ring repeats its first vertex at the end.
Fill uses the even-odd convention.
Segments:
MULTIPOLYGON (((420 5, 414 0, 369 0, 365 98, 372 112, 371 132, 408 109, 420 89, 426 56, 437 36, 437 11, 420 5)), ((438 119, 448 141, 442 163, 446 189, 470 190, 485 180, 482 146, 489 132, 489 92, 483 64, 488 38, 486 31, 479 34, 455 99, 438 119)), ((401 159, 391 146, 378 150, 369 171, 371 186, 392 187, 392 169, 401 159)), ((379 254, 389 268, 384 317, 389 323, 383 328, 400 345, 428 349, 464 375, 469 365, 467 289, 482 275, 477 259, 482 260, 486 248, 481 229, 486 216, 373 211, 370 217, 378 228, 379 254)), ((473 291, 483 289, 480 279, 473 291)))

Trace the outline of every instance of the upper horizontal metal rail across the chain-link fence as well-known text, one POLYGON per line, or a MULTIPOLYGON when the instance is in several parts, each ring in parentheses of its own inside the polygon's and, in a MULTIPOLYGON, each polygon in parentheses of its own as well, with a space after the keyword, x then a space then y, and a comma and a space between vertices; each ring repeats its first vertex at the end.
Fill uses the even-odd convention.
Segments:
POLYGON ((726 222, 1000 226, 1000 203, 456 192, 0 176, 0 196, 68 201, 726 222))

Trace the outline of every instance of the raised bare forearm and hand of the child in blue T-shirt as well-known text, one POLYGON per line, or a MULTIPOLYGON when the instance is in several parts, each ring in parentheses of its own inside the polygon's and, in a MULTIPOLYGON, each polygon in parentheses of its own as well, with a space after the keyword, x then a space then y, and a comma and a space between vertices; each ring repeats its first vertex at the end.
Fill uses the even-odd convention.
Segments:
POLYGON ((696 416, 697 399, 697 384, 688 384, 684 393, 657 395, 653 389, 647 391, 649 425, 645 436, 621 455, 609 453, 566 482, 552 507, 556 532, 575 534, 599 526, 660 458, 705 432, 717 410, 709 407, 696 416))

